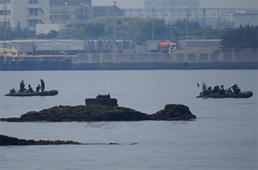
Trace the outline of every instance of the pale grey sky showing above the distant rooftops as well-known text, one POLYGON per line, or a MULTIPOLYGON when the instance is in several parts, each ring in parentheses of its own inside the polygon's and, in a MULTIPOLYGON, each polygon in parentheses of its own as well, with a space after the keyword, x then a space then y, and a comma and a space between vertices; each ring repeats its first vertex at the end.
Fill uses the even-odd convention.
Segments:
MULTIPOLYGON (((151 0, 149 0, 151 1, 151 0)), ((107 6, 114 0, 92 0, 92 5, 107 6)), ((118 0, 120 8, 143 8, 144 0, 118 0)), ((206 8, 251 8, 258 9, 258 0, 200 0, 199 6, 206 8)))

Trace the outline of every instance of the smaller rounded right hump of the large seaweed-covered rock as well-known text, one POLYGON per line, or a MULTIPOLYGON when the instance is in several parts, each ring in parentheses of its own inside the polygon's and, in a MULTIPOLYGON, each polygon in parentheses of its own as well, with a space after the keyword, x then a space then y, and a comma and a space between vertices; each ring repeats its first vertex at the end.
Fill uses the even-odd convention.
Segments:
POLYGON ((190 112, 189 107, 183 104, 167 104, 164 109, 150 115, 150 119, 162 121, 187 121, 196 119, 196 116, 190 112))

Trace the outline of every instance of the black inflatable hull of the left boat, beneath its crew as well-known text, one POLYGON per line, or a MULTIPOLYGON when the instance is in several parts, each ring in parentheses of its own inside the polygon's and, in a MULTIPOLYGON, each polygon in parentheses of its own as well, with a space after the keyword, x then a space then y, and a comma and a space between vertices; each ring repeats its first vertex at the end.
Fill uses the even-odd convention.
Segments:
POLYGON ((58 90, 50 90, 50 91, 39 91, 39 92, 15 92, 15 93, 8 93, 4 96, 54 96, 58 94, 58 90))

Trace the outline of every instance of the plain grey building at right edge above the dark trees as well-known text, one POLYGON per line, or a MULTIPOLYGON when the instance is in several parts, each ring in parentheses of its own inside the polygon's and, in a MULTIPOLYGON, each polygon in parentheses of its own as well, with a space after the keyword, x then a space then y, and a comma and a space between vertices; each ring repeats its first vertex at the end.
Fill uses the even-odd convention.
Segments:
POLYGON ((258 14, 234 14, 234 28, 249 24, 250 26, 258 25, 258 14))

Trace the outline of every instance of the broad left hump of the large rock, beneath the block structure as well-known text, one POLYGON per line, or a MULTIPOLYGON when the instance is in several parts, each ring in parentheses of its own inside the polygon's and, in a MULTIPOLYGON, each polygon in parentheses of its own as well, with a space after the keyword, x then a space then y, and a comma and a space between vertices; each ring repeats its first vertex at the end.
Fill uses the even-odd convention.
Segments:
POLYGON ((0 119, 7 122, 72 122, 72 121, 141 121, 148 115, 125 107, 103 105, 55 106, 39 112, 31 111, 20 118, 0 119))

